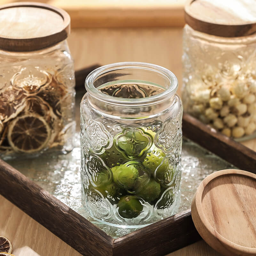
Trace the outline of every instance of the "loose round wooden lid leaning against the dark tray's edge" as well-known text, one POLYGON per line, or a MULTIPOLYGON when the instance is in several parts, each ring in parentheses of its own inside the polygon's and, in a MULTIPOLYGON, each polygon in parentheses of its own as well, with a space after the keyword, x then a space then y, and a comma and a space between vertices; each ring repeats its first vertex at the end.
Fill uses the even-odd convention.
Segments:
POLYGON ((191 204, 198 233, 223 255, 256 255, 256 175, 221 170, 206 177, 191 204))

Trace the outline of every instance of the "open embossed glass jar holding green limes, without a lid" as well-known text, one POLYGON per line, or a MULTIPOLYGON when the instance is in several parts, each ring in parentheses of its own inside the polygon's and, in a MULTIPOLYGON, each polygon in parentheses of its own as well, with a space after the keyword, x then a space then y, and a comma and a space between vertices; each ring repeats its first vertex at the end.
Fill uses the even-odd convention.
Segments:
POLYGON ((153 64, 123 62, 97 68, 85 87, 80 111, 86 211, 121 228, 172 215, 181 179, 176 76, 153 64))

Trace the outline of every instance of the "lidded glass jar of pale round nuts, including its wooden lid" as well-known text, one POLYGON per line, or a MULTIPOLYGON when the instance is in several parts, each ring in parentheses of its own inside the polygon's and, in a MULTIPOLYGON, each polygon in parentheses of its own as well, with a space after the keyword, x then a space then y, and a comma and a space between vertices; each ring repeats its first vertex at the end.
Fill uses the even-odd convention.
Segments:
POLYGON ((230 6, 229 1, 196 0, 186 5, 185 12, 184 111, 228 137, 254 137, 255 1, 235 0, 230 6))

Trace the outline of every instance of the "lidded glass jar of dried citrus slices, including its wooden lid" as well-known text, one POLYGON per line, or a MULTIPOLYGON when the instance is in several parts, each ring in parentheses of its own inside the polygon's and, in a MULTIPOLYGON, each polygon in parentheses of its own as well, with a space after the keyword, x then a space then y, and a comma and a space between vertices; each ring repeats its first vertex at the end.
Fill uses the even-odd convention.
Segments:
POLYGON ((14 3, 0 7, 0 25, 1 158, 72 150, 69 15, 47 4, 14 3))

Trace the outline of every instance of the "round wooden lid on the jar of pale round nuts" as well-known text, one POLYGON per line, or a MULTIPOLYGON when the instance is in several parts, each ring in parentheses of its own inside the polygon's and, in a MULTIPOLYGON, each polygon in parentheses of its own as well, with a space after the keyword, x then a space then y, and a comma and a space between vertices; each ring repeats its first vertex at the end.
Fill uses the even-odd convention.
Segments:
POLYGON ((188 0, 185 20, 193 29, 214 36, 249 36, 256 32, 255 0, 188 0))

